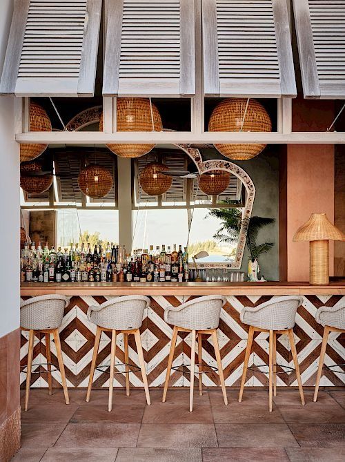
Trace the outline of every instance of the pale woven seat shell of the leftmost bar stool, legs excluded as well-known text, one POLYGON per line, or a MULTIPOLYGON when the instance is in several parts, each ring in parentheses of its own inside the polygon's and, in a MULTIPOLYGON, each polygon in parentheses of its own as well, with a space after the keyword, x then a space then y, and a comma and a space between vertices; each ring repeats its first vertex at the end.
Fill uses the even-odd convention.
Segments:
POLYGON ((69 302, 69 298, 63 295, 42 295, 21 302, 21 328, 58 329, 69 302))

